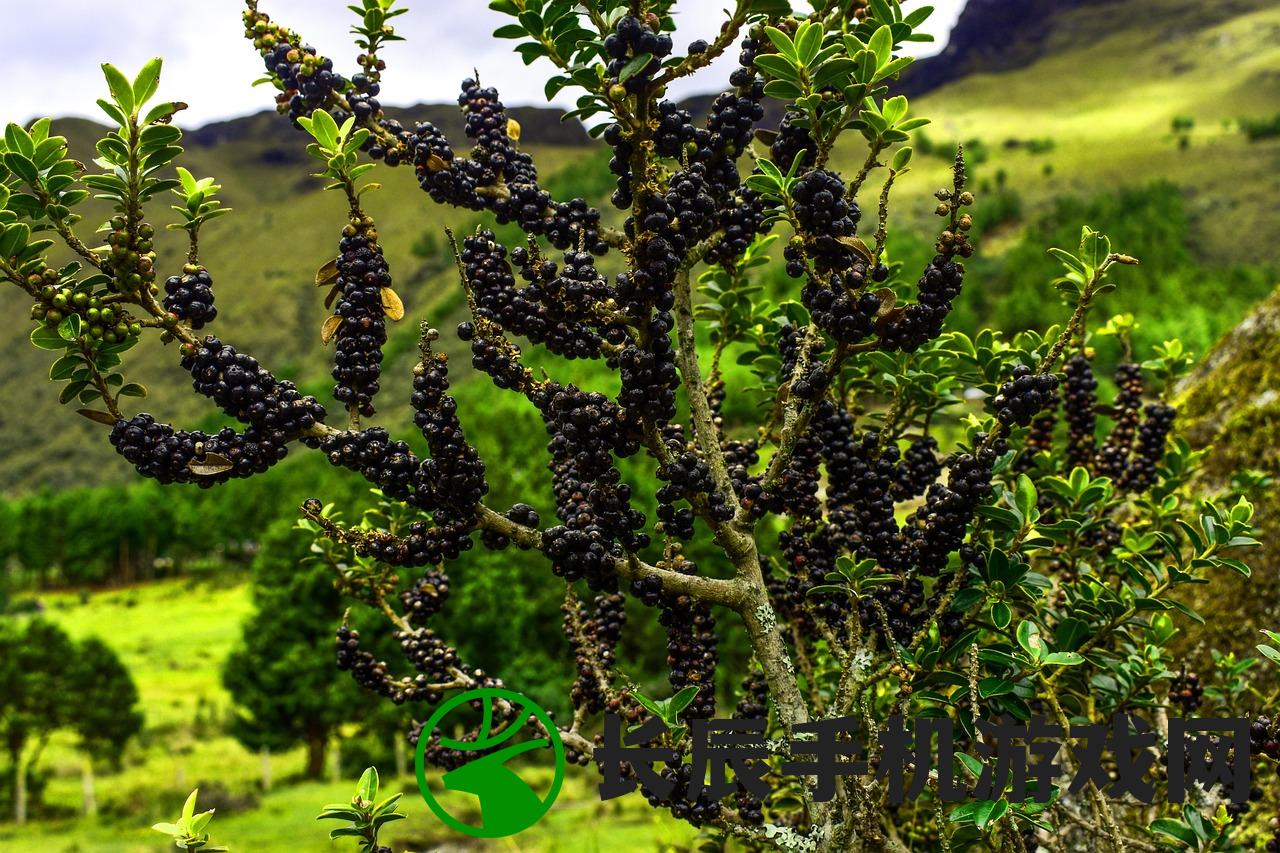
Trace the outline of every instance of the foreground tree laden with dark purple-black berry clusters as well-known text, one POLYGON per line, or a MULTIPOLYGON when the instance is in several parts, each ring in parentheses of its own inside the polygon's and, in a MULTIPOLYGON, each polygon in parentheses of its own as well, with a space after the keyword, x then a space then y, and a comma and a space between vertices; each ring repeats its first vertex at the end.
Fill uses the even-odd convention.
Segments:
MULTIPOLYGON (((628 722, 666 717, 677 726, 664 742, 673 754, 644 794, 721 840, 818 850, 1016 850, 1048 834, 1117 850, 1153 838, 1234 844, 1238 822, 1217 808, 1230 789, 1211 785, 1187 809, 1148 809, 1103 790, 1101 766, 1101 781, 1059 789, 1046 804, 1005 780, 954 803, 916 763, 919 799, 890 808, 887 779, 837 779, 819 798, 797 779, 814 774, 767 751, 753 766, 777 797, 739 779, 732 802, 690 802, 690 742, 728 675, 717 620, 745 638, 759 667, 733 681, 748 676, 736 713, 762 734, 794 745, 792 735, 833 719, 882 733, 905 716, 946 720, 979 788, 993 779, 982 771, 993 758, 979 736, 988 719, 1038 713, 1070 739, 1082 722, 1139 710, 1180 721, 1204 702, 1251 715, 1261 744, 1272 743, 1272 717, 1253 694, 1203 690, 1166 651, 1197 617, 1178 598, 1185 588, 1216 571, 1248 573, 1236 549, 1254 544, 1252 507, 1185 488, 1198 457, 1170 442, 1167 389, 1188 366, 1179 346, 1138 362, 1125 345, 1116 397, 1098 400, 1091 353, 1110 346, 1100 333, 1126 338, 1091 325, 1091 313, 1137 260, 1085 228, 1078 247, 1052 250, 1061 324, 1015 336, 948 329, 979 210, 963 151, 929 202, 940 219, 931 257, 908 270, 888 251, 891 220, 895 234, 901 227, 890 215, 895 183, 911 168, 904 143, 927 123, 888 87, 910 64, 902 49, 923 38, 928 10, 815 0, 797 14, 739 0, 712 41, 680 54, 671 0, 494 0, 512 17, 497 35, 516 40, 526 61, 556 67, 549 93, 581 90, 568 118, 598 122, 617 178, 616 210, 602 213, 545 190, 518 123, 476 79, 458 100, 466 152, 431 124, 406 128, 384 115, 381 51, 398 38, 388 20, 403 12, 392 0, 356 6, 360 70, 349 77, 256 0, 246 5, 246 35, 279 111, 310 140, 320 177, 342 199, 338 255, 316 283, 333 306, 321 339, 335 345, 333 396, 344 412, 205 332, 229 313, 214 310, 198 233, 227 210, 212 178, 166 177, 182 152, 170 123, 179 105, 147 108, 159 60, 133 81, 105 68, 104 110, 118 129, 97 147, 102 174, 81 177, 46 122, 9 126, 0 274, 32 297, 33 343, 61 353, 51 377, 68 383, 63 398, 100 405, 82 414, 110 426, 140 474, 216 487, 302 446, 379 489, 378 510, 356 523, 320 500, 302 506, 339 590, 381 612, 403 652, 407 666, 397 667, 370 651, 369 631, 339 626, 338 665, 360 685, 415 708, 500 685, 500 674, 462 660, 431 625, 447 606, 449 569, 477 542, 516 546, 549 564, 549 576, 530 583, 564 583, 577 680, 566 685, 572 720, 557 727, 570 756, 589 761, 604 711, 628 722), (705 122, 667 100, 668 85, 735 49, 739 64, 705 122), (758 127, 771 101, 782 119, 758 127), (851 177, 835 170, 847 149, 861 163, 851 177), (470 441, 493 412, 458 405, 429 323, 410 400, 428 453, 367 425, 384 400, 388 323, 406 309, 362 199, 378 186, 371 170, 410 165, 434 202, 521 232, 524 245, 511 246, 486 227, 461 241, 448 234, 471 314, 457 336, 495 393, 545 426, 550 496, 494 502, 490 480, 502 474, 470 441), (105 246, 87 247, 73 228, 82 186, 115 205, 105 246), (168 261, 154 251, 150 202, 166 191, 179 197, 175 224, 189 250, 161 296, 168 261), (81 260, 51 268, 38 232, 81 260), (122 405, 143 389, 118 369, 143 334, 175 345, 195 391, 243 430, 207 434, 127 415, 122 405), (563 380, 568 359, 588 361, 588 387, 563 380), (984 401, 966 402, 970 389, 984 401), (748 397, 759 407, 741 405, 748 397), (419 578, 404 584, 410 569, 419 578), (627 599, 666 633, 671 699, 641 695, 614 666, 627 599)), ((279 642, 288 657, 287 638, 279 642)), ((517 713, 506 702, 490 711, 485 720, 517 713)), ((411 738, 425 739, 434 763, 465 761, 438 733, 411 738)), ((1184 744, 1172 740, 1176 756, 1184 744)), ((1171 781, 1152 785, 1175 794, 1171 781)), ((1050 792, 1042 783, 1036 793, 1050 792)))

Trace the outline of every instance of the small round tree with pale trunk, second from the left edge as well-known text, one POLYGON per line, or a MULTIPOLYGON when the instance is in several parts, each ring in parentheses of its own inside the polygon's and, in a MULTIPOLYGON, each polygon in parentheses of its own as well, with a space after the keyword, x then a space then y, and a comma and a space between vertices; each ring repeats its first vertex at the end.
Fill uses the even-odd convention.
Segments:
POLYGON ((93 763, 105 761, 111 770, 119 770, 124 747, 142 731, 145 717, 129 670, 96 637, 79 644, 70 676, 78 688, 67 695, 73 708, 69 725, 84 752, 84 813, 93 815, 97 812, 93 763))

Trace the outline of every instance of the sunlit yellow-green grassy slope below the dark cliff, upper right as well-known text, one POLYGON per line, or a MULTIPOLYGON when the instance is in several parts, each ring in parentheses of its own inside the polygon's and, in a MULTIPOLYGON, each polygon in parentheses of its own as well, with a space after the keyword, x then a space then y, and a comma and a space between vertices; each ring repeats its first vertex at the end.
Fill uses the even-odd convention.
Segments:
MULTIPOLYGON (((1027 68, 970 74, 913 100, 916 115, 933 119, 931 140, 979 138, 991 159, 974 172, 991 179, 997 170, 1036 214, 1064 193, 1089 196, 1116 186, 1156 179, 1176 183, 1197 220, 1197 256, 1213 263, 1280 260, 1266 234, 1280 231, 1276 170, 1280 140, 1249 142, 1238 131, 1242 115, 1271 115, 1280 102, 1280 8, 1230 17, 1216 26, 1175 37, 1147 22, 1179 0, 1064 12, 1110 14, 1114 35, 1093 44, 1050 53, 1027 68), (1128 18, 1128 19, 1126 19, 1128 18), (1196 120, 1190 147, 1170 132, 1174 117, 1196 120), (1006 150, 1007 140, 1051 138, 1043 154, 1006 150), (1052 174, 1044 174, 1044 167, 1052 174)), ((1172 18, 1170 18, 1172 19, 1172 18)), ((864 155, 849 146, 837 165, 849 174, 864 155)), ((916 158, 895 186, 897 207, 928 222, 929 193, 946 183, 947 164, 916 158)), ((863 191, 874 204, 876 181, 863 191)), ((982 216, 982 199, 975 216, 982 216)), ((979 246, 980 251, 984 247, 979 246)))

